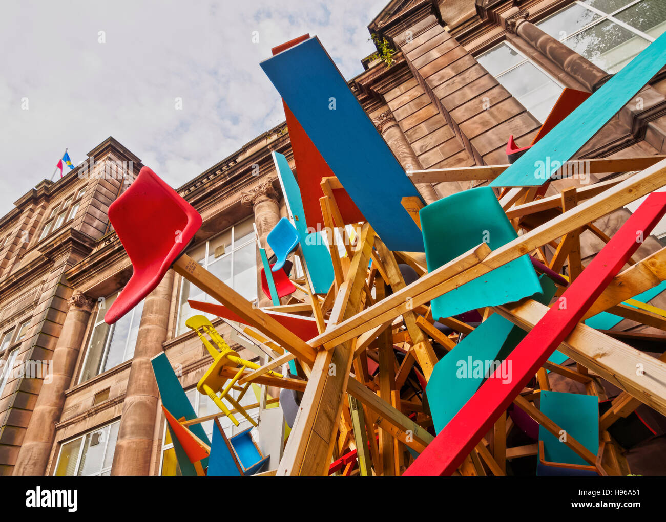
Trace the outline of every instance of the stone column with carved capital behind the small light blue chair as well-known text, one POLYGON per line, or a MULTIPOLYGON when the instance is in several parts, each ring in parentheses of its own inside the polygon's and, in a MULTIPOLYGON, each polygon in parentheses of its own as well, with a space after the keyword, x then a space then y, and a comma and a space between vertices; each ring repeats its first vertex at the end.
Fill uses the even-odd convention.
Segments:
MULTIPOLYGON (((256 224, 256 231, 259 234, 259 241, 262 247, 266 249, 266 255, 270 257, 272 250, 268 246, 266 237, 275 225, 280 221, 280 191, 276 189, 273 182, 276 178, 268 177, 261 182, 257 187, 250 190, 250 192, 243 192, 240 194, 240 202, 247 207, 252 207, 254 210, 254 223, 256 224)), ((261 291, 261 257, 259 252, 256 253, 256 277, 257 289, 260 307, 270 307, 272 301, 264 295, 261 291)))

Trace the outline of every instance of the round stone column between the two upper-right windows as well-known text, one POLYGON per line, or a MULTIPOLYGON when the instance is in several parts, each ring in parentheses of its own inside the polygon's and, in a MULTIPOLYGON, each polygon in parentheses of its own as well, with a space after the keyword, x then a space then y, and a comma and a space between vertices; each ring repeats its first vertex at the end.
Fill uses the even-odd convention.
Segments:
POLYGON ((500 15, 502 25, 509 33, 515 33, 545 57, 559 65, 567 74, 581 82, 590 92, 601 87, 611 74, 597 67, 566 45, 547 35, 533 23, 527 21, 525 9, 513 7, 500 15))

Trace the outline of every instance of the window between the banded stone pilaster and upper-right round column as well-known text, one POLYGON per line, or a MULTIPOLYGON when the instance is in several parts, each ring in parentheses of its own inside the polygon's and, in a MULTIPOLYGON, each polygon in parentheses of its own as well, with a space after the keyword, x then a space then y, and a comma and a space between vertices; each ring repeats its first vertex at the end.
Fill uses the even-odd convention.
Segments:
POLYGON ((545 120, 562 92, 558 82, 507 42, 476 59, 539 122, 545 120))

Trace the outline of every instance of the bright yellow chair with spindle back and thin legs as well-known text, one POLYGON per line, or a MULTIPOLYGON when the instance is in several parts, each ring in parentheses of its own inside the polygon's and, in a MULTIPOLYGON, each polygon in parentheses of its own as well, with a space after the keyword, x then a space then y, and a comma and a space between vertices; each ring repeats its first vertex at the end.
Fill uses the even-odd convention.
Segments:
MULTIPOLYGON (((194 315, 193 317, 190 317, 190 319, 185 322, 185 325, 196 332, 201 339, 201 342, 203 342, 206 347, 206 350, 208 350, 214 359, 210 368, 206 370, 204 376, 202 376, 198 384, 196 384, 196 389, 201 394, 210 397, 212 402, 214 402, 236 426, 238 426, 238 420, 236 420, 229 408, 227 408, 224 402, 222 402, 222 399, 226 399, 237 412, 252 423, 252 426, 256 426, 254 419, 252 419, 248 412, 240 406, 240 400, 248 390, 251 382, 247 382, 245 386, 240 387, 236 386, 236 381, 242 377, 245 368, 256 370, 259 368, 259 365, 240 358, 238 353, 226 344, 222 336, 203 315, 194 315), (224 368, 230 368, 233 370, 237 369, 236 374, 229 382, 226 382, 228 377, 222 375, 222 370, 224 368), (234 399, 229 393, 232 389, 240 391, 240 395, 237 399, 234 399), (220 393, 219 395, 218 392, 220 393)), ((270 371, 267 373, 282 378, 282 374, 270 371)))

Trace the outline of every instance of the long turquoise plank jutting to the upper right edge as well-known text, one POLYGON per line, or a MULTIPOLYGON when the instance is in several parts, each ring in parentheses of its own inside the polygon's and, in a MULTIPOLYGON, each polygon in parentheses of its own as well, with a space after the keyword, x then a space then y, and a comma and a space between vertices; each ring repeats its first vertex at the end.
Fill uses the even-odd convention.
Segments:
POLYGON ((637 55, 496 178, 492 187, 541 186, 666 65, 666 33, 637 55))

